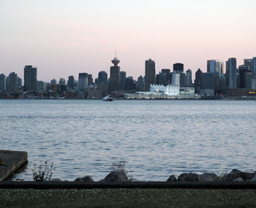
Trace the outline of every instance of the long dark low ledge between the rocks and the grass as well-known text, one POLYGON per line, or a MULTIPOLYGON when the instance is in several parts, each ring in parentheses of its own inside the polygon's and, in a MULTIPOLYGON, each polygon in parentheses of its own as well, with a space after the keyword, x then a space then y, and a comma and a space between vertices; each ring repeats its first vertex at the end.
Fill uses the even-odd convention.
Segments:
POLYGON ((256 189, 256 182, 33 182, 5 181, 0 189, 256 189))

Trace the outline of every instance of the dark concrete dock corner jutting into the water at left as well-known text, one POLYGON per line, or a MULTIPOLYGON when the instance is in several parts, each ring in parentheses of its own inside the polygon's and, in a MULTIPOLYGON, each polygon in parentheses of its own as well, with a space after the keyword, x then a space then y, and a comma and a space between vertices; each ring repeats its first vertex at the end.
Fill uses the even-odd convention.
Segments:
POLYGON ((0 150, 0 182, 10 177, 27 162, 27 152, 0 150))

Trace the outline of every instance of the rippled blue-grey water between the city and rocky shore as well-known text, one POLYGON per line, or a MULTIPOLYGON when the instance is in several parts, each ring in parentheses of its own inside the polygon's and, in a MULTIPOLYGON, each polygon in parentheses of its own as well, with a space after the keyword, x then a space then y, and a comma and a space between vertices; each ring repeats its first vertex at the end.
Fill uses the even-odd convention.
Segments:
MULTIPOLYGON (((54 178, 256 170, 255 101, 0 100, 0 149, 54 162, 54 178)), ((30 168, 13 177, 32 180, 30 168)))

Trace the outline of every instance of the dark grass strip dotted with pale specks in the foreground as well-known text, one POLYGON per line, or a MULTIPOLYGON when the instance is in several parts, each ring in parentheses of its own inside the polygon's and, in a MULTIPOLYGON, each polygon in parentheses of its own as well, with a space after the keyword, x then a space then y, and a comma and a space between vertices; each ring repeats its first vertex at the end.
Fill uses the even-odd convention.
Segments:
POLYGON ((256 207, 256 190, 0 189, 0 207, 256 207))

